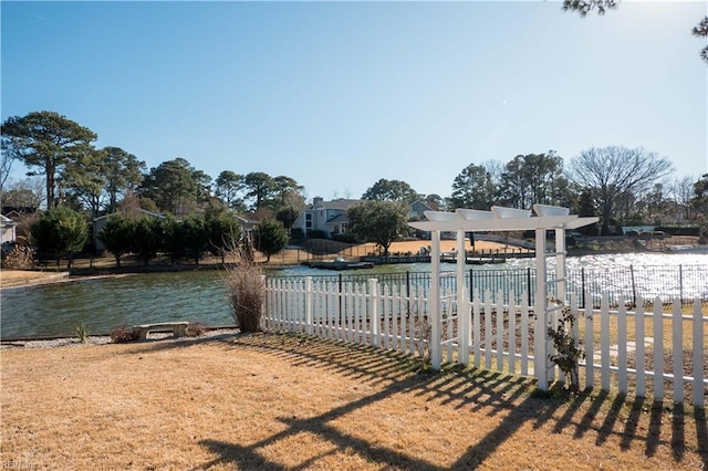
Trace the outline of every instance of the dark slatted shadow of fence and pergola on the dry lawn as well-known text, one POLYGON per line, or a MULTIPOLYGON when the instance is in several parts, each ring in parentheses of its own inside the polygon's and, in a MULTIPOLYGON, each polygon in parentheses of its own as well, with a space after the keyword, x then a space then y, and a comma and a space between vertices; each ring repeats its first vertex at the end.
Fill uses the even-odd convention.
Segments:
POLYGON ((199 443, 216 454, 216 458, 198 469, 217 464, 236 465, 240 469, 285 469, 282 464, 266 459, 262 450, 301 432, 316 435, 331 448, 316 458, 305 458, 294 469, 315 465, 317 459, 344 450, 384 468, 472 469, 483 463, 527 425, 531 425, 534 430, 545 428, 553 433, 570 435, 574 439, 590 439, 598 448, 608 446, 613 438, 612 443, 618 443, 618 451, 642 447, 647 457, 654 457, 660 447, 667 447, 677 462, 685 459, 687 443, 691 443, 691 450, 693 443, 698 443, 695 451, 700 464, 708 468, 705 409, 689 408, 690 411, 687 411, 683 405, 671 408, 648 399, 611 396, 603 390, 584 390, 566 396, 558 385, 548 394, 533 394, 533 381, 528 378, 451 365, 445 366, 440 373, 433 373, 421 368, 419 359, 398 353, 299 335, 221 335, 183 342, 144 343, 136 345, 135 350, 145 353, 189 348, 206 342, 218 343, 227 352, 262 352, 293 366, 306 366, 319 369, 322 374, 341 375, 375 386, 377 391, 315 417, 281 417, 278 420, 287 428, 257 443, 244 446, 236 441, 204 439, 199 443), (425 396, 434 405, 466 409, 489 417, 503 417, 480 440, 471 443, 451 467, 445 468, 416 458, 405 450, 395 450, 343 432, 332 425, 337 418, 400 394, 425 396), (690 420, 686 420, 687 418, 690 420))

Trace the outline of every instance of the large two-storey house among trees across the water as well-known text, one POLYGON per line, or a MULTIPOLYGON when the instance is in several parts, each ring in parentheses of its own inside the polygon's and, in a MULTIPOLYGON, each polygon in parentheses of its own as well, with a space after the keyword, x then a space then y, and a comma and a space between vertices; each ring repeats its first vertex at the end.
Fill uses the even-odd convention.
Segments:
POLYGON ((304 211, 300 213, 293 229, 302 229, 304 234, 310 231, 322 231, 325 237, 331 238, 334 234, 346 232, 348 217, 346 212, 351 207, 362 202, 361 199, 343 199, 339 198, 332 201, 324 201, 320 197, 312 199, 304 211))

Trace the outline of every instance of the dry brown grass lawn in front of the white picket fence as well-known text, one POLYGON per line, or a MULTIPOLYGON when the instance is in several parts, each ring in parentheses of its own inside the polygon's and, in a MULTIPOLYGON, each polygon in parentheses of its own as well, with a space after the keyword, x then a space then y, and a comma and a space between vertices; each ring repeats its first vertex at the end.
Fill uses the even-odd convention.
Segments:
POLYGON ((525 379, 419 366, 272 334, 6 349, 0 460, 80 470, 708 465, 702 410, 602 393, 539 397, 525 379))

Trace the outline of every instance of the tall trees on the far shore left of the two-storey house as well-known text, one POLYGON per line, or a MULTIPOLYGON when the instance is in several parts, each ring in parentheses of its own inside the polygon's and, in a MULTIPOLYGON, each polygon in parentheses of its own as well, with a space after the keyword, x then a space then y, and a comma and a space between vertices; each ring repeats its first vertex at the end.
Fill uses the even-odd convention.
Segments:
POLYGON ((10 117, 1 134, 3 206, 44 201, 46 208, 67 205, 95 218, 115 212, 121 199, 135 197, 145 210, 178 218, 221 208, 284 222, 304 208, 304 188, 290 177, 223 170, 215 180, 179 157, 148 169, 125 149, 96 148, 96 133, 55 112, 10 117), (44 187, 20 184, 6 189, 15 161, 30 169, 29 176, 43 176, 44 187))

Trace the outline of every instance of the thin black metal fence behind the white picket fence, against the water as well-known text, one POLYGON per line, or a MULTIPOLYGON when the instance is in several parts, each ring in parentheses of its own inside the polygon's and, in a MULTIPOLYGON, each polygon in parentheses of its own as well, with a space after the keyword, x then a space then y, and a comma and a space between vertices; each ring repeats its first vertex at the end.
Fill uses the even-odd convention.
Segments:
MULTIPOLYGON (((278 275, 275 275, 277 278, 278 275)), ((553 273, 549 273, 554 278, 553 273)), ((288 275, 292 280, 304 280, 303 276, 288 275)), ((333 275, 314 275, 317 282, 336 283, 340 289, 352 283, 364 283, 368 279, 377 279, 382 284, 402 286, 406 295, 423 289, 427 294, 430 287, 429 272, 402 273, 339 273, 333 275)), ((575 293, 580 306, 600 307, 600 301, 606 296, 611 306, 616 306, 620 296, 624 302, 637 305, 637 300, 654 300, 673 303, 679 300, 686 306, 695 299, 708 303, 708 266, 706 265, 666 265, 666 266, 626 266, 605 270, 566 270, 568 294, 575 293)), ((454 272, 441 274, 444 289, 457 291, 457 279, 454 272)), ((465 273, 465 283, 469 292, 491 291, 494 295, 501 292, 503 302, 519 304, 525 302, 533 305, 535 292, 535 269, 469 269, 465 273), (516 299, 509 300, 508 293, 514 292, 516 299), (525 299, 521 299, 522 296, 525 299)), ((558 294, 558 293, 554 293, 558 294)))

